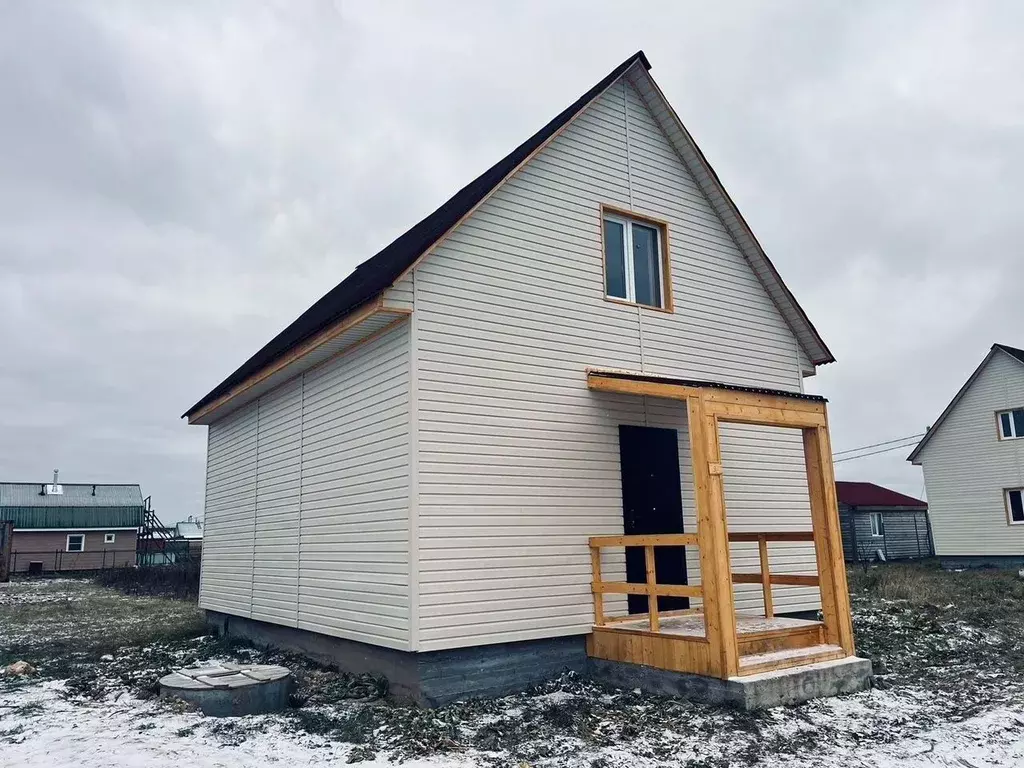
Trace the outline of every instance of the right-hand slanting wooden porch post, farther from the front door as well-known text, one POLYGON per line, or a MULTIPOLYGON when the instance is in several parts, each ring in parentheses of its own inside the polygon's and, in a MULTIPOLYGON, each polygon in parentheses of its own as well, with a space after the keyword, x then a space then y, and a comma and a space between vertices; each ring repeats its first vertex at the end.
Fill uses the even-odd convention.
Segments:
POLYGON ((853 655, 850 591, 846 583, 827 420, 825 426, 805 428, 803 433, 825 637, 829 643, 842 646, 847 653, 853 655))

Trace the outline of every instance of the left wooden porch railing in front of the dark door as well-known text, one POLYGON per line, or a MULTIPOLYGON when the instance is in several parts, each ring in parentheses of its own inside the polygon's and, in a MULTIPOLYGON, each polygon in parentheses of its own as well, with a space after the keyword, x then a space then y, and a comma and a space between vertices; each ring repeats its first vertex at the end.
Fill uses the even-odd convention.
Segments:
MULTIPOLYGON (((647 622, 651 632, 657 632, 660 627, 660 616, 657 609, 658 597, 700 597, 700 587, 687 584, 658 584, 654 567, 655 547, 695 547, 695 534, 662 534, 657 536, 596 536, 590 540, 590 563, 593 570, 591 584, 594 593, 594 624, 598 627, 610 624, 615 620, 604 617, 604 596, 614 595, 646 595, 647 622), (605 582, 601 578, 601 549, 608 547, 643 547, 646 566, 646 582, 605 582)), ((678 614, 679 611, 672 611, 678 614)), ((632 616, 639 618, 640 616, 632 616)))

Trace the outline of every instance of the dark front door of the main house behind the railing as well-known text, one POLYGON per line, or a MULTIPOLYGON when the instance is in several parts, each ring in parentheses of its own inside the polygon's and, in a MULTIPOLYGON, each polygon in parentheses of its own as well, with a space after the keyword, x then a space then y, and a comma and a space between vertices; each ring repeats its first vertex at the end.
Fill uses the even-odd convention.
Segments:
MULTIPOLYGON (((623 528, 627 536, 683 532, 679 481, 679 443, 675 429, 618 427, 623 470, 623 528)), ((681 547, 654 550, 658 584, 686 584, 686 554, 681 547)), ((626 581, 643 584, 647 567, 642 548, 626 550, 626 581)), ((647 612, 646 595, 630 595, 630 613, 647 612)), ((689 598, 659 597, 658 610, 688 608, 689 598)))

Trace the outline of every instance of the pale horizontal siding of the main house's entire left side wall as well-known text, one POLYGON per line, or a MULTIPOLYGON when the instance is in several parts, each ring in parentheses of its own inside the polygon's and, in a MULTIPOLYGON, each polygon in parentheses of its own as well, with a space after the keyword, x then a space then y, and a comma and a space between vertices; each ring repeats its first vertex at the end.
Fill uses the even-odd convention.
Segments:
POLYGON ((409 648, 409 324, 210 426, 205 608, 409 648))

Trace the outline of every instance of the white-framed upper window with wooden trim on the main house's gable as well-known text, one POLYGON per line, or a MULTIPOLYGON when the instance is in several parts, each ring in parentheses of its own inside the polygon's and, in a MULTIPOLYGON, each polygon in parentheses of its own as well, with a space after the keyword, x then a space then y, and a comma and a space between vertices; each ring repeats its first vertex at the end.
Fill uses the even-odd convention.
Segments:
POLYGON ((663 309, 668 303, 665 272, 665 227, 605 213, 605 295, 663 309))

